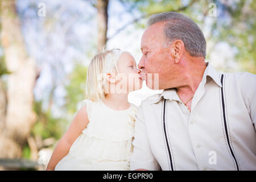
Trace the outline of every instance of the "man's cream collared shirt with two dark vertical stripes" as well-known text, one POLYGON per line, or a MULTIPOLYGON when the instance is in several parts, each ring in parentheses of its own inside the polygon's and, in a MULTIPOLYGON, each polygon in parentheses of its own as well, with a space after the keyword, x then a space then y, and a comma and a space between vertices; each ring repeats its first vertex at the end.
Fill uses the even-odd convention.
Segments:
POLYGON ((191 113, 175 89, 148 97, 137 113, 130 170, 256 170, 255 93, 256 75, 219 73, 207 63, 191 113))

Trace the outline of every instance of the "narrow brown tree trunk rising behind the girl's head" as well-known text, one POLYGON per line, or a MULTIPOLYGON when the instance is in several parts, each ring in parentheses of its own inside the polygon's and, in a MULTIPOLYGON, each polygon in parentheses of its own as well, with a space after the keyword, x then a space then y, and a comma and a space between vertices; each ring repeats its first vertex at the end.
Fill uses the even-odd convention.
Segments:
POLYGON ((98 52, 106 45, 106 34, 108 31, 108 5, 109 0, 97 0, 97 22, 98 22, 98 52))

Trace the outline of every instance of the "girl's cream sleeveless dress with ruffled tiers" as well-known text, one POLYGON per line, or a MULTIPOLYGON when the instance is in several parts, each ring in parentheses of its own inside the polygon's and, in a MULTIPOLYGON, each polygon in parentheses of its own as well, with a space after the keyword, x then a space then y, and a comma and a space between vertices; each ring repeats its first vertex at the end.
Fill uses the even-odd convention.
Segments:
POLYGON ((81 107, 85 105, 89 123, 55 170, 129 170, 137 106, 113 110, 102 102, 84 100, 81 107))

